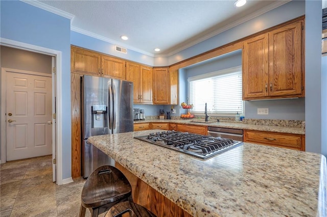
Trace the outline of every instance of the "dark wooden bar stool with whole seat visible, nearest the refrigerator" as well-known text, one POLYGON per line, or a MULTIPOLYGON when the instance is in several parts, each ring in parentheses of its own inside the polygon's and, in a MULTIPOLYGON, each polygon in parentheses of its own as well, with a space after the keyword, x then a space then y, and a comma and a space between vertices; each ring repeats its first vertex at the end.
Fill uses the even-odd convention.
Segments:
POLYGON ((116 203, 133 202, 132 187, 120 170, 102 166, 86 179, 81 199, 79 216, 85 216, 86 208, 90 210, 91 216, 98 216, 116 203))

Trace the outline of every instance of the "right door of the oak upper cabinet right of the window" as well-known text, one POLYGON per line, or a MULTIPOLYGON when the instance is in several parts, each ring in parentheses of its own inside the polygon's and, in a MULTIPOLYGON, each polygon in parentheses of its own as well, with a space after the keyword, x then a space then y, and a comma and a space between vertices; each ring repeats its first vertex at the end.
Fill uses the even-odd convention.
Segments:
POLYGON ((302 93, 302 21, 269 32, 269 95, 302 93))

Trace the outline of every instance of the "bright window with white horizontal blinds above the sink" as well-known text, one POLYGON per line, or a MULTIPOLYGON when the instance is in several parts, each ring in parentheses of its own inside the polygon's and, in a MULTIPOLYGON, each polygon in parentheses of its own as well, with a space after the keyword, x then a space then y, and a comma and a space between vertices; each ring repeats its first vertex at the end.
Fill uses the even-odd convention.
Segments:
POLYGON ((242 68, 234 67, 188 79, 192 113, 207 111, 217 115, 243 113, 242 68))

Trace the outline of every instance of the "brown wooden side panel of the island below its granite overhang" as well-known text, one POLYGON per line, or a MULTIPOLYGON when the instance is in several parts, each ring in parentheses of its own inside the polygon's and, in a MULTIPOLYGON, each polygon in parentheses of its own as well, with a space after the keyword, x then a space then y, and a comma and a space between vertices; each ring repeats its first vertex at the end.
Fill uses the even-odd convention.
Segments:
POLYGON ((126 168, 115 163, 115 167, 122 171, 132 186, 132 197, 134 203, 142 205, 153 212, 156 216, 180 216, 191 217, 188 212, 177 206, 171 200, 161 195, 153 187, 129 172, 126 168))

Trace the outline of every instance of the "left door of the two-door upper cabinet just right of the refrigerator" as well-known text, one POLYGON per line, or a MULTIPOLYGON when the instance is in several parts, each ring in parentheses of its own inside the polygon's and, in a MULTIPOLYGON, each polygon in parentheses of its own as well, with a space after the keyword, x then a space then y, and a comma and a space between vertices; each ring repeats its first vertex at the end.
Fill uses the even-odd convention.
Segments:
POLYGON ((139 86, 139 65, 127 62, 126 63, 126 80, 133 82, 133 102, 137 103, 140 100, 139 86))

